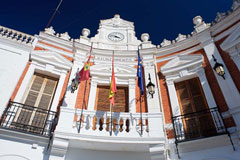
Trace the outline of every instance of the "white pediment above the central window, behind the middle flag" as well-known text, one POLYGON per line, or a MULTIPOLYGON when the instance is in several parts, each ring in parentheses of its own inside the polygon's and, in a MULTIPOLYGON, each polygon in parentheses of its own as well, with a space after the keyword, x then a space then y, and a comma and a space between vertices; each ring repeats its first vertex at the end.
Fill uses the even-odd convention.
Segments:
MULTIPOLYGON (((116 77, 136 77, 137 69, 120 64, 114 64, 116 77)), ((93 76, 110 77, 112 75, 112 64, 97 64, 90 68, 90 74, 93 76)))

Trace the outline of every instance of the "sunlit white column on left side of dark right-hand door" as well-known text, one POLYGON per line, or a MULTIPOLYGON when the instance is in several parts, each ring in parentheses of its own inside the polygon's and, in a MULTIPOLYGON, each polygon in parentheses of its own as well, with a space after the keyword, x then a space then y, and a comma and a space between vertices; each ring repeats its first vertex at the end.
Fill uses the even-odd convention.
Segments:
POLYGON ((178 97, 177 97, 177 92, 176 92, 176 89, 174 86, 174 82, 173 82, 173 80, 166 79, 166 84, 167 84, 167 88, 168 88, 168 94, 169 94, 169 98, 170 98, 173 116, 179 116, 179 115, 181 115, 181 112, 180 112, 180 107, 179 107, 179 103, 178 103, 178 97))

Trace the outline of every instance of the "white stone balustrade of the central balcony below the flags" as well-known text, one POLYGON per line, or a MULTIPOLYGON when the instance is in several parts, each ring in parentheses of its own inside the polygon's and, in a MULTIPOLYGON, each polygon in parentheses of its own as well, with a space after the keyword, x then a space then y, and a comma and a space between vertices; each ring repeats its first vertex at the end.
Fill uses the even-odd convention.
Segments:
POLYGON ((111 112, 77 110, 77 122, 73 126, 76 126, 76 133, 80 127, 80 134, 109 136, 112 127, 112 136, 147 137, 149 114, 142 113, 141 118, 140 113, 113 112, 111 117, 111 112), (81 113, 83 118, 80 126, 81 113))

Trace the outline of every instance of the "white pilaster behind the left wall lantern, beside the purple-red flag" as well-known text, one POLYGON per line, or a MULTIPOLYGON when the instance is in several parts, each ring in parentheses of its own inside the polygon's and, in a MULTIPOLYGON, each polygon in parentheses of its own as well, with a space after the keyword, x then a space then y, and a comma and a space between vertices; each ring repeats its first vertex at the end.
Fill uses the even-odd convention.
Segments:
POLYGON ((83 64, 78 64, 76 61, 74 62, 74 65, 73 65, 72 71, 71 71, 71 75, 70 75, 70 78, 68 81, 68 85, 67 85, 66 95, 64 97, 64 101, 62 104, 62 106, 64 106, 64 107, 75 108, 78 90, 76 90, 74 93, 71 93, 71 84, 72 84, 72 79, 75 78, 78 69, 80 70, 82 68, 82 66, 83 66, 83 64))

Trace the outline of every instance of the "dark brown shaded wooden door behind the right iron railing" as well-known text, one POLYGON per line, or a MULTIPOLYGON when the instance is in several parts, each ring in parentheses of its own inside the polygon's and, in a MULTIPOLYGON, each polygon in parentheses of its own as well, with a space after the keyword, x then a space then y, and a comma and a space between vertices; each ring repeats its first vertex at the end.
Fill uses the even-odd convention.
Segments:
POLYGON ((211 113, 198 78, 175 84, 186 138, 211 136, 216 133, 211 113))

